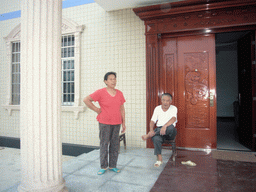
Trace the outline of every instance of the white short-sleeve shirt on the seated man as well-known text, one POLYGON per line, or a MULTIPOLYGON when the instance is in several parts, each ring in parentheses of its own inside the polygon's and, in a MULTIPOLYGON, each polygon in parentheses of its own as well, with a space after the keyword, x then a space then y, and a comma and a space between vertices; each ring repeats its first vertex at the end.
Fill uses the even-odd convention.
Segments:
POLYGON ((156 126, 164 126, 171 118, 176 117, 176 121, 173 123, 174 127, 176 126, 178 109, 174 105, 171 105, 167 111, 163 111, 162 105, 159 105, 155 108, 152 115, 151 121, 157 122, 156 126))

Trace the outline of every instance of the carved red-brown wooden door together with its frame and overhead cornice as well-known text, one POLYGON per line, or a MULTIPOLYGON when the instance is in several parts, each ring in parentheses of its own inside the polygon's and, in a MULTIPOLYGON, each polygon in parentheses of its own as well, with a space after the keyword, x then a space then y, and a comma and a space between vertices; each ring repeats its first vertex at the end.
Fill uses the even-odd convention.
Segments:
MULTIPOLYGON (((161 103, 160 95, 170 92, 178 107, 177 145, 216 148, 215 39, 209 33, 255 31, 256 1, 174 1, 133 11, 145 24, 147 131, 153 110, 161 103)), ((241 104, 244 111, 252 109, 252 120, 244 121, 249 125, 240 130, 244 134, 246 129, 251 148, 255 149, 255 36, 250 46, 251 102, 241 104)), ((153 147, 150 140, 147 147, 153 147)))

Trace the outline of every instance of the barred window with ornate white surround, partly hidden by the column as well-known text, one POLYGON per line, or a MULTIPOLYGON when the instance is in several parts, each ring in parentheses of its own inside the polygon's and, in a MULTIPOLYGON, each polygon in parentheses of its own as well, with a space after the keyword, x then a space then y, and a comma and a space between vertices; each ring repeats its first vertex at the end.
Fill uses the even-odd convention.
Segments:
MULTIPOLYGON (((62 42, 61 42, 61 65, 62 65, 62 111, 74 112, 78 119, 79 113, 84 111, 80 96, 80 47, 83 25, 62 18, 62 42)), ((20 32, 21 25, 17 25, 7 37, 6 53, 9 63, 7 87, 7 100, 3 106, 9 115, 13 110, 20 110, 20 32)))

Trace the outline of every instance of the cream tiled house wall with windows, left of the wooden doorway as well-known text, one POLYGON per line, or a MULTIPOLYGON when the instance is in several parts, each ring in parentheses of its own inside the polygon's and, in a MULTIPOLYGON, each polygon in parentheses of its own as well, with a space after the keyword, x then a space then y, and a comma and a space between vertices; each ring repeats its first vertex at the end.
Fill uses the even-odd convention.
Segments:
MULTIPOLYGON (((1 12, 0 136, 20 138, 19 72, 20 1, 6 1, 1 12)), ((106 12, 93 1, 63 2, 62 11, 62 142, 99 146, 96 113, 83 98, 105 87, 106 72, 117 73, 125 96, 126 142, 146 147, 146 54, 144 23, 132 9, 106 12), (68 6, 64 7, 67 3, 68 6), (64 79, 65 77, 65 79, 64 79)))

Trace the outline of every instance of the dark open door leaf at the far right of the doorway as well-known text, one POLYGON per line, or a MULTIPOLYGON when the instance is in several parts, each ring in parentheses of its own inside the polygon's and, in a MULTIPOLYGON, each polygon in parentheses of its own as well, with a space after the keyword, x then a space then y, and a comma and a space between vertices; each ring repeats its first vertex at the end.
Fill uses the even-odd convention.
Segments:
POLYGON ((238 41, 239 141, 255 151, 256 70, 255 31, 238 41))

